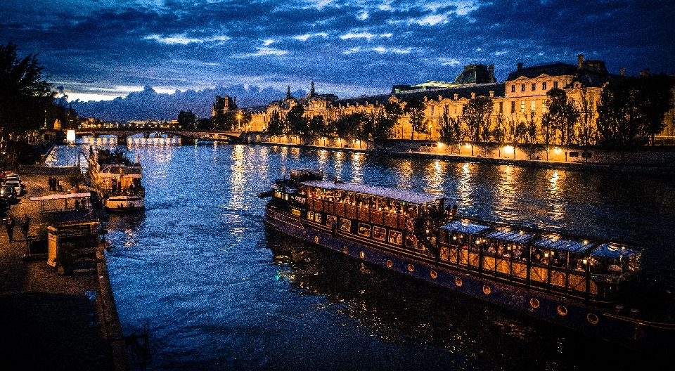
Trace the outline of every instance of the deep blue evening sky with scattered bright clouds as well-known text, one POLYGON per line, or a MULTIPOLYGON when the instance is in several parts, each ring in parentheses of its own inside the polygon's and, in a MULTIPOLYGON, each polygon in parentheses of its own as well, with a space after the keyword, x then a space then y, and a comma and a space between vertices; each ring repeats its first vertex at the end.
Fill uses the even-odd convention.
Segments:
POLYGON ((216 86, 342 97, 451 81, 470 63, 605 60, 675 74, 674 1, 4 0, 0 44, 71 100, 216 86))

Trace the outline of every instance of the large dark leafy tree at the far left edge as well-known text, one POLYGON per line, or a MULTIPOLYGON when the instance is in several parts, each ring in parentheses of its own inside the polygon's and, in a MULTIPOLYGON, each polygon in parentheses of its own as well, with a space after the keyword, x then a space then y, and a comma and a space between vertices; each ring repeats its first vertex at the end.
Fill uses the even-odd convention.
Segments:
POLYGON ((0 141, 17 140, 44 125, 55 92, 42 79, 37 55, 17 56, 15 44, 0 44, 0 141))

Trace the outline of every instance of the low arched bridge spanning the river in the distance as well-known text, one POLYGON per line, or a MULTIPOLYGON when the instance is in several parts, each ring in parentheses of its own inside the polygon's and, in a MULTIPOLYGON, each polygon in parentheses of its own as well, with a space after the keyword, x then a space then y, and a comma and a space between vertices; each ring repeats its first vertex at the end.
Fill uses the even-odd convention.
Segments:
POLYGON ((75 131, 77 136, 89 134, 91 136, 114 135, 117 136, 117 143, 127 143, 129 136, 143 134, 146 138, 153 133, 167 134, 167 136, 179 136, 184 143, 194 143, 197 139, 219 134, 227 136, 233 142, 250 143, 260 141, 262 132, 255 131, 225 131, 225 130, 196 130, 196 129, 160 129, 160 128, 91 128, 79 129, 75 131), (257 140, 256 140, 257 138, 257 140))

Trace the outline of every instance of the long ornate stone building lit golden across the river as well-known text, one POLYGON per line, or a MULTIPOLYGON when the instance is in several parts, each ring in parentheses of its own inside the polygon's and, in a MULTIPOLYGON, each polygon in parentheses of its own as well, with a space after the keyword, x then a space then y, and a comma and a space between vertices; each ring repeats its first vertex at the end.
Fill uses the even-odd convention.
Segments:
MULTIPOLYGON (((648 70, 645 70, 647 73, 648 70)), ((410 98, 418 98, 425 103, 425 119, 428 124, 428 134, 415 134, 417 139, 437 140, 439 138, 439 123, 444 115, 458 117, 462 115, 463 106, 471 98, 477 96, 490 97, 494 103, 491 119, 493 123, 503 124, 507 141, 513 140, 515 126, 520 123, 534 122, 541 125, 541 117, 546 112, 546 93, 554 88, 563 89, 567 97, 571 98, 581 113, 580 121, 593 122, 597 117, 596 105, 599 102, 600 92, 605 84, 621 79, 619 74, 611 74, 605 68, 602 60, 584 60, 583 55, 577 58, 577 65, 567 63, 551 63, 523 67, 518 63, 516 70, 510 72, 505 82, 496 82, 494 66, 468 65, 458 74, 453 83, 425 82, 415 86, 395 85, 389 94, 361 96, 355 98, 338 98, 333 94, 318 94, 314 89, 314 82, 307 96, 294 98, 290 94, 290 87, 282 100, 275 100, 267 106, 243 108, 249 112, 252 121, 247 129, 250 131, 264 131, 269 117, 278 112, 281 115, 288 113, 294 105, 304 105, 307 117, 316 115, 324 119, 337 119, 340 115, 354 112, 372 113, 375 109, 387 102, 397 102, 404 106, 410 98)), ((229 97, 216 98, 214 112, 218 110, 238 110, 236 101, 229 97), (221 103, 222 102, 222 103, 221 103)), ((663 134, 674 135, 673 117, 675 108, 666 115, 667 127, 663 134)), ((394 128, 394 136, 399 139, 408 139, 412 136, 409 118, 405 115, 399 119, 394 128)), ((541 143, 541 142, 540 142, 541 143)))

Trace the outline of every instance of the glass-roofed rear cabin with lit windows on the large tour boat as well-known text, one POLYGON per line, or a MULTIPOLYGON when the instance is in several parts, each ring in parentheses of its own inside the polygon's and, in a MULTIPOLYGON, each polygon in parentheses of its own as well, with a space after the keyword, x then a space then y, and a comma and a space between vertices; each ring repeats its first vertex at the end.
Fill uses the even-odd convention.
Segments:
POLYGON ((613 301, 640 269, 641 252, 485 222, 441 227, 439 261, 495 280, 593 301, 613 301))

